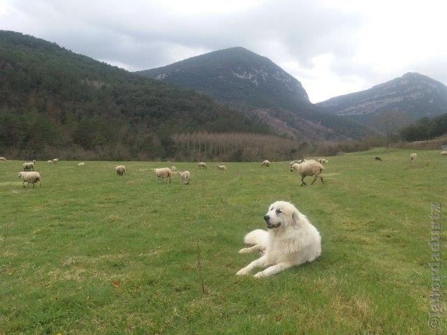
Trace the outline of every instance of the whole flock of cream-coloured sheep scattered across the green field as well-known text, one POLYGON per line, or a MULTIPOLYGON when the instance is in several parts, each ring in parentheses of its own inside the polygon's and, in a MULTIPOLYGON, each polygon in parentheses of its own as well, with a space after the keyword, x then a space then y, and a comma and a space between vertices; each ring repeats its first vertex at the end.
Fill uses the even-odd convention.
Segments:
MULTIPOLYGON (((441 156, 447 156, 447 151, 441 151, 441 156)), ((382 161, 380 157, 375 157, 375 161, 382 161)), ((410 163, 414 162, 418 159, 418 154, 411 154, 410 155, 410 163)), ((6 158, 0 157, 0 161, 7 161, 6 158)), ((48 164, 57 163, 59 161, 59 158, 54 158, 50 161, 47 161, 48 164)), ((311 185, 314 184, 316 179, 320 179, 321 183, 323 183, 323 177, 321 177, 321 174, 323 173, 325 163, 328 163, 329 161, 325 158, 318 158, 316 161, 314 159, 302 159, 300 161, 292 161, 291 162, 291 172, 295 171, 300 174, 301 177, 301 186, 307 185, 305 183, 305 177, 311 177, 315 176, 314 181, 312 181, 311 185)), ((23 186, 25 187, 25 182, 27 183, 27 186, 29 184, 32 185, 34 188, 34 184, 39 183, 41 184, 41 174, 34 171, 34 165, 36 165, 36 160, 29 162, 29 163, 23 163, 23 171, 19 172, 19 177, 22 178, 23 186)), ((78 163, 79 166, 84 166, 85 163, 78 163)), ((270 167, 270 161, 265 160, 261 163, 262 167, 268 168, 270 167)), ((198 170, 207 169, 207 163, 200 162, 198 163, 198 170)), ((226 172, 226 165, 219 165, 217 164, 217 170, 221 172, 226 172)), ((126 167, 124 165, 118 165, 115 168, 115 172, 119 176, 124 176, 126 174, 126 167)), ((156 180, 159 181, 162 179, 163 181, 171 181, 171 177, 173 176, 173 173, 177 173, 177 168, 173 166, 172 168, 159 168, 154 169, 154 174, 156 177, 156 180)), ((178 172, 180 184, 189 185, 189 180, 191 179, 191 172, 189 171, 183 171, 178 172)))

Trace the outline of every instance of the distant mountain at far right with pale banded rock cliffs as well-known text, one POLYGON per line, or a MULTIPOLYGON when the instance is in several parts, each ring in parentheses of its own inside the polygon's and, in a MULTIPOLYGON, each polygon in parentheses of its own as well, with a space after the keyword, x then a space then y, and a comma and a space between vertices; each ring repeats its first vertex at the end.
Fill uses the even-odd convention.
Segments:
POLYGON ((384 112, 400 114, 402 124, 447 112, 447 87, 426 75, 406 73, 371 89, 317 103, 325 112, 374 124, 384 112))

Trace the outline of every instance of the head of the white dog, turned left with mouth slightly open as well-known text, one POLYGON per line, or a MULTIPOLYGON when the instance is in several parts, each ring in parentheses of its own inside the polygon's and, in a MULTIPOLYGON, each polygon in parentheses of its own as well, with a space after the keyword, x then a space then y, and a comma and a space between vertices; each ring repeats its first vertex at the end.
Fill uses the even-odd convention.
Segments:
POLYGON ((267 214, 264 216, 268 229, 298 228, 300 217, 298 209, 290 202, 277 201, 270 204, 267 214))

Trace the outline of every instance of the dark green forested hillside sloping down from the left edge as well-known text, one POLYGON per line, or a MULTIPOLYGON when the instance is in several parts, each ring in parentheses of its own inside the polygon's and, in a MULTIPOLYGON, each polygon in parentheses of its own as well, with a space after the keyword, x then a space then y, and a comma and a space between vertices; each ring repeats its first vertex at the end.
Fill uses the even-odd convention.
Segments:
POLYGON ((180 132, 266 126, 211 98, 0 31, 0 152, 9 156, 163 158, 180 132))

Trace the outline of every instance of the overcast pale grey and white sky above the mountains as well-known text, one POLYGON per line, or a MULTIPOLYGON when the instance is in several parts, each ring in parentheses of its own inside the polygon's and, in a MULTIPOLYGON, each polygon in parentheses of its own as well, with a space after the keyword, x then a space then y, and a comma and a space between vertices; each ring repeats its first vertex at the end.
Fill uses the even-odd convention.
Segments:
POLYGON ((447 1, 0 0, 0 29, 128 70, 242 46, 312 102, 416 71, 447 84, 447 1))

